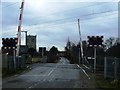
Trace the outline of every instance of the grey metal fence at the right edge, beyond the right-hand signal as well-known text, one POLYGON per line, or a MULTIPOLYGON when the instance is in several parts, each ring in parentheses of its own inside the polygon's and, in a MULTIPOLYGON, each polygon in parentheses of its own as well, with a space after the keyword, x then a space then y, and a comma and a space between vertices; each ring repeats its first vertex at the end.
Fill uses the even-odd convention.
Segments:
POLYGON ((105 57, 104 78, 120 79, 120 58, 105 57))

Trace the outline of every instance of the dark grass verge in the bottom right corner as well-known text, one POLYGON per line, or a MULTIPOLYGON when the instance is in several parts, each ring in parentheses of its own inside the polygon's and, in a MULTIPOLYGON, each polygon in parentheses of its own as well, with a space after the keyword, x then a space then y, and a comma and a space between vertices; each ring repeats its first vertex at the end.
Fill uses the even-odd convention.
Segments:
POLYGON ((95 74, 95 86, 96 88, 111 88, 119 90, 120 80, 104 79, 103 75, 95 74))

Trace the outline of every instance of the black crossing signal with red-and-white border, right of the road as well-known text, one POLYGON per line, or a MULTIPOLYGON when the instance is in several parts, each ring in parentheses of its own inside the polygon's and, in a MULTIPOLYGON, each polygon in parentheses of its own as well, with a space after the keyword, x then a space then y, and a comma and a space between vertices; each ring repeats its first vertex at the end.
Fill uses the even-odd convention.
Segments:
POLYGON ((88 36, 88 46, 103 46, 103 36, 88 36))

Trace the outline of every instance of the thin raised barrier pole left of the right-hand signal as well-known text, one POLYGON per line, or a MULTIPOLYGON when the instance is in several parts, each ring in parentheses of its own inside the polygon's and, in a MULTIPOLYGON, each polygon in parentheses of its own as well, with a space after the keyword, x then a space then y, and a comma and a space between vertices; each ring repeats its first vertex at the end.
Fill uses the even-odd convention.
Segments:
POLYGON ((79 65, 80 65, 80 51, 81 51, 81 63, 83 60, 83 48, 82 48, 82 39, 81 39, 81 32, 80 32, 80 20, 78 19, 78 30, 79 30, 79 38, 80 38, 80 48, 79 48, 79 65))

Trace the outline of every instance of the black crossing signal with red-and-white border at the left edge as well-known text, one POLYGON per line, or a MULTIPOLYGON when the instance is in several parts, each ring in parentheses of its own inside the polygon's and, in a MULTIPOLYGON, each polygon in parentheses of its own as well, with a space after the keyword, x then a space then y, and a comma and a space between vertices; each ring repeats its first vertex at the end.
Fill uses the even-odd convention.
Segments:
POLYGON ((3 49, 15 49, 17 45, 17 38, 2 38, 3 49))

